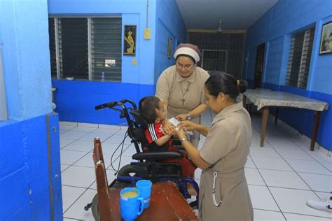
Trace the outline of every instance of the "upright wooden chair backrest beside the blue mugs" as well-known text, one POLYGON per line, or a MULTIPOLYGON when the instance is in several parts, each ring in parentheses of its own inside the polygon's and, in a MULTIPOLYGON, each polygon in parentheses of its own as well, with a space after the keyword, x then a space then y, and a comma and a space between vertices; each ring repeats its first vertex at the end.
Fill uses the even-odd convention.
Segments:
POLYGON ((95 162, 99 220, 111 220, 111 201, 109 194, 109 183, 107 182, 104 156, 102 154, 102 144, 100 138, 94 140, 93 161, 95 162))

